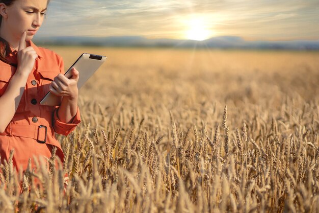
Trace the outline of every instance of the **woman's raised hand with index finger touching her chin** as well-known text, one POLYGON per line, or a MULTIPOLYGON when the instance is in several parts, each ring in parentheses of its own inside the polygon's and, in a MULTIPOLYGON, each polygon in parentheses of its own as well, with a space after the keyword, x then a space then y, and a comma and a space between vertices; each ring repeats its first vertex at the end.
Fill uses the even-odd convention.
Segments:
POLYGON ((34 63, 38 58, 36 51, 32 46, 25 47, 26 31, 23 32, 18 49, 18 68, 17 72, 23 74, 24 76, 29 76, 31 73, 34 63))

